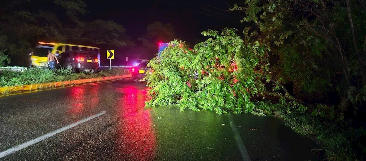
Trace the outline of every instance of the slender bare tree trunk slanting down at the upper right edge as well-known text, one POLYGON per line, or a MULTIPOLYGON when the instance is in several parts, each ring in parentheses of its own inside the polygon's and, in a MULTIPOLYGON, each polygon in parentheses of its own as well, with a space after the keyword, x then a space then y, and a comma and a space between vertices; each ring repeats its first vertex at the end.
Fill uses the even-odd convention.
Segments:
POLYGON ((353 44, 354 44, 355 50, 356 50, 356 57, 358 59, 359 65, 361 67, 362 82, 365 84, 366 83, 365 69, 363 68, 363 65, 365 65, 365 62, 363 62, 362 57, 360 55, 360 51, 358 50, 358 46, 357 46, 357 38, 356 38, 355 28, 353 26, 353 21, 352 21, 350 1, 349 0, 346 0, 346 3, 347 3, 347 16, 348 16, 348 20, 350 21, 352 38, 353 38, 353 44))

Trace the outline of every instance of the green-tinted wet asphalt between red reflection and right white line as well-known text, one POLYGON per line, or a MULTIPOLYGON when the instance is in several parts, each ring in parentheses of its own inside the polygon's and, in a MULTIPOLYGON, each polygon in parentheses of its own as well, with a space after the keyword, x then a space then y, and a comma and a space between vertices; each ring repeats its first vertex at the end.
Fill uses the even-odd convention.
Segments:
POLYGON ((151 113, 156 160, 242 160, 227 116, 175 107, 156 107, 151 113))

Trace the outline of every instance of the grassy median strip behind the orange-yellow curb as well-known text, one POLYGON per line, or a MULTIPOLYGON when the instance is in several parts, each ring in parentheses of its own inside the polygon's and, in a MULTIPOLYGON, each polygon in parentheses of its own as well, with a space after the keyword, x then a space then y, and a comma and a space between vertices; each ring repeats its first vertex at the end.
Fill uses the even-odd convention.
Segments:
POLYGON ((22 71, 3 69, 3 73, 0 73, 0 87, 122 76, 129 73, 129 70, 123 68, 104 69, 98 73, 74 73, 70 69, 47 70, 33 68, 22 71))

